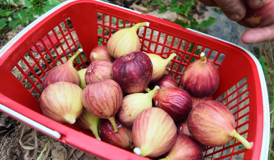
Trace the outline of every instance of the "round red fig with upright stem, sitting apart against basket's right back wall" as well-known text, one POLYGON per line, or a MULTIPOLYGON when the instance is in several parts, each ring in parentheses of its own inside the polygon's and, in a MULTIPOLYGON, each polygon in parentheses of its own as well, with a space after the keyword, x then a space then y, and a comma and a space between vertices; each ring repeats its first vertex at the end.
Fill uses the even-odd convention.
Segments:
POLYGON ((190 95, 210 96, 219 87, 219 71, 212 61, 201 53, 201 59, 186 66, 182 74, 182 86, 190 95))

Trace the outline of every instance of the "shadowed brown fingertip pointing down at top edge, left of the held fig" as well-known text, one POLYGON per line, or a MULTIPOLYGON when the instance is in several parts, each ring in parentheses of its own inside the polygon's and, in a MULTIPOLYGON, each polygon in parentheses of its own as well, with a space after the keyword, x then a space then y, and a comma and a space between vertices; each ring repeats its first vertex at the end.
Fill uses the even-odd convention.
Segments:
POLYGON ((242 0, 215 0, 215 2, 232 21, 240 21, 245 16, 245 3, 242 0))

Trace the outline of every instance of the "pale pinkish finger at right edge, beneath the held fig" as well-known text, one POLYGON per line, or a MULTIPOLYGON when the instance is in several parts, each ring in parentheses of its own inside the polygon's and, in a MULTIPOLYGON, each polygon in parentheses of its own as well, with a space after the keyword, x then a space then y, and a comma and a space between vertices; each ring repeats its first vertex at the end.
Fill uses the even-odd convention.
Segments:
POLYGON ((260 43, 274 39, 274 25, 253 28, 245 31, 241 38, 244 43, 260 43))

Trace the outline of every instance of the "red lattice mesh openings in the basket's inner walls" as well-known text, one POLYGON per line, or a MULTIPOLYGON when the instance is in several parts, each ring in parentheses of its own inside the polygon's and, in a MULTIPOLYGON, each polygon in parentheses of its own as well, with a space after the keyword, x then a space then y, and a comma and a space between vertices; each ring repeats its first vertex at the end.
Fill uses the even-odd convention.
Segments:
MULTIPOLYGON (((107 44, 108 39, 115 31, 133 25, 135 23, 126 21, 124 18, 97 12, 98 44, 107 44)), ((214 51, 209 46, 189 42, 175 34, 169 35, 150 27, 140 27, 138 36, 141 51, 145 53, 155 53, 163 58, 169 57, 171 53, 177 54, 177 57, 173 58, 167 66, 165 73, 172 75, 179 85, 185 66, 199 59, 201 52, 206 53, 206 57, 212 60, 217 68, 222 65, 227 55, 222 51, 214 51)), ((73 28, 70 18, 64 18, 62 22, 30 47, 11 71, 37 101, 40 101, 42 77, 51 68, 64 64, 80 47, 77 31, 73 28)), ((73 65, 77 70, 86 68, 88 57, 84 53, 80 54, 73 65)), ((180 87, 182 88, 182 86, 180 87)), ((236 119, 236 131, 247 138, 250 122, 247 77, 242 77, 241 81, 229 87, 231 88, 216 98, 216 101, 229 107, 236 119)), ((245 148, 236 139, 232 139, 229 144, 223 147, 208 147, 204 151, 204 155, 205 159, 243 159, 245 148)))

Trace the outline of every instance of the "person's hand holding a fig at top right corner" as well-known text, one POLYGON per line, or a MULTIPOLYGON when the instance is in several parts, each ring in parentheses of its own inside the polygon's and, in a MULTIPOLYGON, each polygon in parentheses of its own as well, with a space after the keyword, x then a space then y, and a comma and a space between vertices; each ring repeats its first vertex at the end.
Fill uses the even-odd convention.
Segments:
MULTIPOLYGON (((208 6, 216 6, 223 10, 223 13, 232 21, 236 21, 239 25, 249 27, 251 29, 242 34, 241 40, 244 43, 259 43, 274 39, 274 15, 265 14, 268 23, 263 27, 254 27, 245 21, 246 14, 252 9, 260 8, 262 5, 271 5, 274 7, 273 0, 199 0, 208 6), (270 20, 270 21, 269 21, 270 20), (272 24, 272 25, 269 25, 272 24)), ((269 7, 269 6, 268 6, 269 7)), ((264 9, 266 10, 266 9, 264 9)), ((271 12, 272 9, 270 9, 271 12)), ((264 20, 265 21, 265 20, 264 20)))

